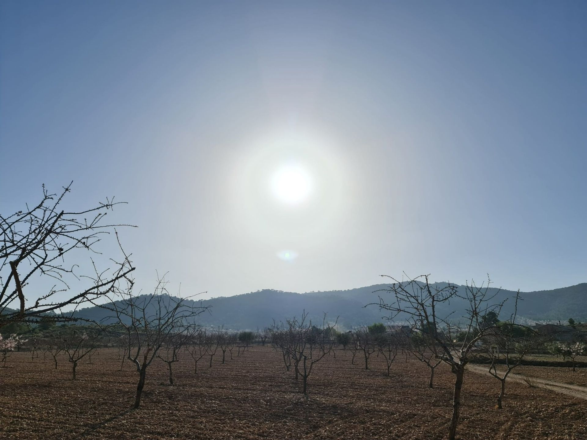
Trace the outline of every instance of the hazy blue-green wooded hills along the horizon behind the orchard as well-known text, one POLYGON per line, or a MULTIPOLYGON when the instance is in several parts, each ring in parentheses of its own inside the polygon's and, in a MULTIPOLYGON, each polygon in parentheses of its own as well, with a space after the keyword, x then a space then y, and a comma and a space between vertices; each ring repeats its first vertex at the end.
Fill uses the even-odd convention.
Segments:
MULTIPOLYGON (((446 283, 438 283, 443 285, 446 283)), ((303 310, 309 312, 314 322, 322 323, 322 313, 328 312, 328 320, 339 317, 341 328, 350 329, 352 326, 380 321, 386 311, 377 306, 367 306, 368 303, 378 302, 378 295, 389 302, 392 298, 389 293, 376 292, 385 289, 386 284, 359 287, 350 290, 330 290, 326 292, 282 292, 281 290, 258 290, 228 297, 217 297, 201 302, 210 307, 210 313, 205 312, 197 317, 198 323, 205 326, 224 326, 225 329, 256 329, 272 323, 272 320, 284 321, 293 316, 300 316, 303 310)), ((460 286, 464 289, 464 286, 460 286)), ((497 289, 490 289, 497 292, 497 289)), ((495 297, 495 302, 510 298, 502 310, 502 317, 510 317, 514 302, 511 299, 515 292, 501 290, 495 297)), ((562 287, 554 290, 521 293, 522 301, 518 304, 518 316, 532 321, 561 320, 572 317, 576 321, 587 321, 587 283, 576 286, 562 287)), ((200 302, 194 302, 200 304, 200 302)), ((438 310, 439 316, 456 312, 452 316, 457 320, 465 314, 466 305, 463 300, 454 299, 450 304, 443 304, 438 310)), ((100 307, 89 307, 77 312, 77 317, 102 320, 109 316, 107 310, 100 307)), ((401 317, 398 318, 401 320, 401 317)))

